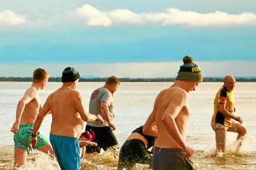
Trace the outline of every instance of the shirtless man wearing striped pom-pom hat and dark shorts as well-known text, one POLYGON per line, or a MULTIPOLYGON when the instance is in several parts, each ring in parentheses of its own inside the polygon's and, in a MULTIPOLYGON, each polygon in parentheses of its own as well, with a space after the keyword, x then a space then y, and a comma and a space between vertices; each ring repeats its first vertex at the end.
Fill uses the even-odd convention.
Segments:
POLYGON ((202 82, 202 72, 190 56, 183 58, 175 83, 162 90, 154 102, 143 133, 154 135, 150 129, 157 124, 158 136, 152 158, 153 169, 193 169, 190 161, 194 149, 186 144, 189 126, 189 92, 202 82))

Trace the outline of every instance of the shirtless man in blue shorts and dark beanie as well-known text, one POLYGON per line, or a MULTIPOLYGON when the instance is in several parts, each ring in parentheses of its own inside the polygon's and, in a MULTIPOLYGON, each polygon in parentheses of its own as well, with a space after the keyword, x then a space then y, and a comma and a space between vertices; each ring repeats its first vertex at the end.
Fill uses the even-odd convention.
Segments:
POLYGON ((75 89, 79 72, 67 67, 62 73, 63 85, 47 97, 35 120, 30 147, 35 145, 38 129, 49 111, 52 114, 50 142, 61 169, 80 169, 81 158, 78 138, 84 121, 103 121, 99 114, 86 112, 83 97, 75 89))

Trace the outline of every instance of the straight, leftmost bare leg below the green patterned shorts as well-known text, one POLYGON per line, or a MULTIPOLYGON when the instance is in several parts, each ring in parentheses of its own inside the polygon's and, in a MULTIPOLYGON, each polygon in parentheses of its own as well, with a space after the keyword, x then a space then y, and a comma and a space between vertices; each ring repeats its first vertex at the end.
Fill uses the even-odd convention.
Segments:
POLYGON ((27 155, 28 155, 28 152, 25 149, 15 148, 13 169, 17 169, 18 167, 21 167, 25 163, 27 155))

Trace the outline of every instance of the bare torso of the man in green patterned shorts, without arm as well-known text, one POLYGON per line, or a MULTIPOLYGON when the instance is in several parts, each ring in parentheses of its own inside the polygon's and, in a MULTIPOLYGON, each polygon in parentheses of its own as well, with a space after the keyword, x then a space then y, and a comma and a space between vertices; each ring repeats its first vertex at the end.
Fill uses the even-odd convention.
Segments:
POLYGON ((40 108, 42 108, 38 91, 35 90, 34 87, 30 87, 28 90, 26 90, 24 97, 28 95, 31 96, 31 93, 33 93, 33 99, 29 101, 29 103, 26 103, 24 110, 22 112, 20 124, 34 124, 35 118, 38 116, 40 108))

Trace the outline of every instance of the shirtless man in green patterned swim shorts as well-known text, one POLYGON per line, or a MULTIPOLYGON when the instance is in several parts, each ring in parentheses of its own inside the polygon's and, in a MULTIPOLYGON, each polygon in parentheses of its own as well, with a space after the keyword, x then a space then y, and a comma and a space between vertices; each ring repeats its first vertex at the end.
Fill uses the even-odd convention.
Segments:
MULTIPOLYGON (((38 91, 45 89, 49 75, 45 69, 35 69, 33 72, 33 83, 26 90, 22 99, 19 100, 16 110, 16 120, 11 128, 14 133, 14 167, 21 167, 29 152, 29 139, 32 134, 35 118, 42 109, 42 103, 39 99, 38 91)), ((50 152, 54 155, 51 144, 43 135, 38 135, 38 142, 33 146, 44 153, 50 152)))

